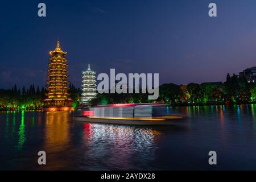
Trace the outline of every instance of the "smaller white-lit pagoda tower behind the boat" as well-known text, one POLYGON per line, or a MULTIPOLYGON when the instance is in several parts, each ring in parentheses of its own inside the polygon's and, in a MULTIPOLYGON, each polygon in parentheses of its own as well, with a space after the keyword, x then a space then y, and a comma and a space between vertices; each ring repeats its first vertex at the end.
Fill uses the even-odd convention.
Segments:
POLYGON ((86 71, 82 72, 82 104, 88 104, 96 96, 96 72, 90 69, 90 64, 86 71))

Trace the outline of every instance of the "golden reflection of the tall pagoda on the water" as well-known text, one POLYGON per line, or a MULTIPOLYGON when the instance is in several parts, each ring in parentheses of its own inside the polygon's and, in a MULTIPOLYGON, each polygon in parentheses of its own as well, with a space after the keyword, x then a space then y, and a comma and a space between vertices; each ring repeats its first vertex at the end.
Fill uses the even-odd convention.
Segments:
POLYGON ((53 111, 46 113, 46 125, 45 125, 45 137, 42 150, 47 153, 47 165, 44 169, 67 169, 68 166, 72 165, 72 160, 76 156, 69 156, 68 159, 61 156, 63 153, 71 150, 70 146, 70 135, 69 131, 70 118, 68 111, 53 111))

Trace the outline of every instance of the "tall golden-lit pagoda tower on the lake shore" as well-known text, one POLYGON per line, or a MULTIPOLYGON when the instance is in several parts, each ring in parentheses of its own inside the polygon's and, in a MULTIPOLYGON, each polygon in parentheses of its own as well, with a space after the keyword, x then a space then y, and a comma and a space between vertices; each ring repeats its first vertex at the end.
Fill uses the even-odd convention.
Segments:
POLYGON ((60 42, 57 41, 57 47, 49 54, 49 69, 47 80, 47 99, 44 100, 44 111, 60 111, 73 110, 72 99, 68 98, 68 70, 67 52, 63 52, 60 48, 60 42))

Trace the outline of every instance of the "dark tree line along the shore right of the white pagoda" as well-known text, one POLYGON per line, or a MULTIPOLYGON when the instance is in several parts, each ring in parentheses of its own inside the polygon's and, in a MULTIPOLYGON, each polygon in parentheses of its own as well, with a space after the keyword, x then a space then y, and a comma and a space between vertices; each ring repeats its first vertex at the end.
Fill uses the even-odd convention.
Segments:
POLYGON ((147 94, 97 94, 89 105, 158 102, 179 105, 249 104, 256 101, 256 84, 244 76, 229 73, 225 82, 191 83, 187 85, 163 84, 159 86, 157 100, 148 100, 147 94))

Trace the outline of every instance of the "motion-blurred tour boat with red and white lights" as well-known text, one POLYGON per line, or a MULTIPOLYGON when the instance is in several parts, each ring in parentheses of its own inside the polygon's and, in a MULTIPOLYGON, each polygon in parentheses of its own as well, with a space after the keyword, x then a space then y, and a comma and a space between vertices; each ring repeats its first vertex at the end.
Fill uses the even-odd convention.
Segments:
POLYGON ((109 123, 118 125, 171 125, 184 119, 183 116, 168 115, 154 117, 153 107, 159 104, 112 104, 90 107, 76 116, 76 121, 109 123))

